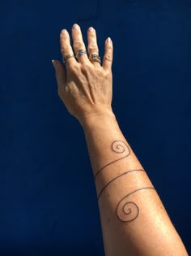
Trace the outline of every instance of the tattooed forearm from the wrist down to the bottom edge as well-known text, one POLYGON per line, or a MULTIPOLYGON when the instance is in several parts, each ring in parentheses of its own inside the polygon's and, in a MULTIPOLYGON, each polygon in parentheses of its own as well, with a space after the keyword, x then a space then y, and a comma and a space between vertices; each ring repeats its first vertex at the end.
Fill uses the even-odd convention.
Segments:
POLYGON ((83 123, 107 256, 185 256, 168 214, 115 115, 83 123))

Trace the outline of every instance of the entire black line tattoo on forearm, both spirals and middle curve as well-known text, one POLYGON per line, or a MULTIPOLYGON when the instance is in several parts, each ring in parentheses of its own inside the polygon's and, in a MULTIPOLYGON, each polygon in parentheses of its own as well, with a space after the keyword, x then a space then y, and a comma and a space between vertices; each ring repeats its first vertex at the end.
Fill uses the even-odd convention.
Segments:
MULTIPOLYGON (((111 163, 108 163, 104 167, 102 167, 99 171, 97 171, 96 176, 95 176, 95 180, 96 180, 96 177, 98 176, 98 174, 100 173, 100 171, 102 171, 105 167, 108 167, 108 165, 110 165, 112 163, 115 163, 115 162, 117 162, 117 161, 119 161, 123 158, 127 158, 130 154, 129 147, 123 141, 114 141, 114 142, 112 142, 112 151, 114 151, 117 154, 125 153, 125 156, 123 156, 121 158, 117 158, 116 160, 114 160, 111 163)), ((110 180, 108 182, 108 184, 104 185, 104 188, 100 190, 100 193, 98 194, 98 200, 100 198, 101 193, 104 192, 104 189, 106 189, 106 187, 108 187, 108 185, 111 184, 112 181, 117 180, 121 176, 128 175, 129 173, 132 173, 134 171, 144 171, 144 170, 143 169, 138 169, 138 170, 125 171, 121 175, 119 175, 119 176, 115 177, 114 179, 110 180)), ((117 217, 122 222, 130 222, 130 221, 133 221, 134 219, 138 218, 138 214, 139 214, 138 205, 135 202, 130 201, 129 197, 132 194, 137 193, 138 191, 143 190, 143 189, 154 189, 154 188, 153 187, 146 187, 146 188, 136 189, 133 192, 126 195, 125 197, 123 197, 120 200, 120 202, 118 202, 118 204, 117 204, 117 217)))

